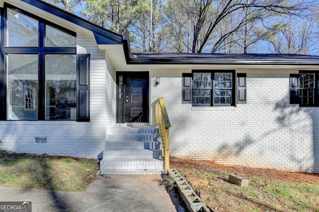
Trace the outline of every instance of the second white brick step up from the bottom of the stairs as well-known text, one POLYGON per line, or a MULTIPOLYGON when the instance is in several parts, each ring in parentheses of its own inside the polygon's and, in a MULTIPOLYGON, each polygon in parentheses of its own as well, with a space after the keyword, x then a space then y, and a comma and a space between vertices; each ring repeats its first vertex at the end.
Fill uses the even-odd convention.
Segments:
POLYGON ((142 159, 142 158, 161 158, 161 151, 159 149, 105 149, 103 151, 103 158, 107 159, 142 159))

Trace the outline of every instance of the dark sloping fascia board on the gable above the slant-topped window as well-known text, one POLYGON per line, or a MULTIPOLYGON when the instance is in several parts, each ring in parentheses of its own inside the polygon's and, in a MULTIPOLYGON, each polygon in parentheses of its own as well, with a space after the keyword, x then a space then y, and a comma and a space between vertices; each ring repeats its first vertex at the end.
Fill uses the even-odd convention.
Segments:
POLYGON ((21 0, 93 32, 98 44, 122 44, 123 36, 40 0, 21 0))

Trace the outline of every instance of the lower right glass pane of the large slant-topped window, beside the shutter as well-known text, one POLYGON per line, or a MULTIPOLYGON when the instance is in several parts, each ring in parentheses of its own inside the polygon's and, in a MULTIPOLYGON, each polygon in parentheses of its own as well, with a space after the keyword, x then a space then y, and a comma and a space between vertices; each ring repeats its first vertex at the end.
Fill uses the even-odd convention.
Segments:
POLYGON ((76 119, 76 55, 45 56, 46 119, 76 119))

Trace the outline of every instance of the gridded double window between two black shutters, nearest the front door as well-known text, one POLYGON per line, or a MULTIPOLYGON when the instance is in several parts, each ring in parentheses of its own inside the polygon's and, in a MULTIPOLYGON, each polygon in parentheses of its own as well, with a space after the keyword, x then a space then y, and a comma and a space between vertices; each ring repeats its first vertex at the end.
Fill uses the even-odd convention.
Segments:
POLYGON ((234 71, 193 71, 193 106, 234 106, 234 71))

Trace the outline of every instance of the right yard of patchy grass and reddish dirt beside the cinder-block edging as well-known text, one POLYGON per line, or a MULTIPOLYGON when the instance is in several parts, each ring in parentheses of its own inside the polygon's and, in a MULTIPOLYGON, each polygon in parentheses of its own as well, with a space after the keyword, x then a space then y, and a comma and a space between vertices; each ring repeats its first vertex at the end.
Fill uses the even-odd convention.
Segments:
POLYGON ((171 158, 170 168, 189 180, 209 209, 218 212, 319 212, 319 174, 227 166, 211 161, 171 158), (229 174, 249 180, 247 187, 229 174))

